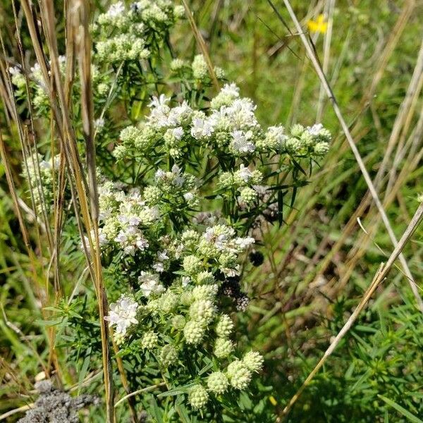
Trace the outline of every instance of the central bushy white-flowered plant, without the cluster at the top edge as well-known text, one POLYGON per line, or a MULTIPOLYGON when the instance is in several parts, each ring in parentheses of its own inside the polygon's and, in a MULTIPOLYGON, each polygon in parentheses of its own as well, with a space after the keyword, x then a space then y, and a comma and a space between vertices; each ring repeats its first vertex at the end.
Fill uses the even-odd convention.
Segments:
POLYGON ((109 325, 123 357, 142 356, 192 410, 212 416, 216 401, 246 389, 263 362, 231 339, 228 313, 249 302, 240 258, 252 252, 261 221, 278 220, 280 178, 322 157, 330 134, 321 125, 264 130, 234 84, 201 110, 172 106, 164 94, 149 109, 121 130, 113 152, 135 173, 99 188, 99 248, 132 287, 117 290, 109 325))

